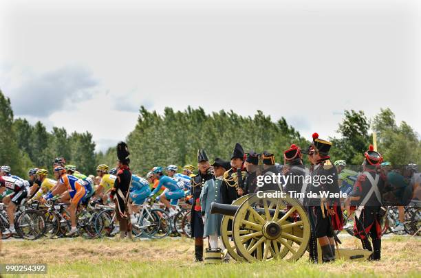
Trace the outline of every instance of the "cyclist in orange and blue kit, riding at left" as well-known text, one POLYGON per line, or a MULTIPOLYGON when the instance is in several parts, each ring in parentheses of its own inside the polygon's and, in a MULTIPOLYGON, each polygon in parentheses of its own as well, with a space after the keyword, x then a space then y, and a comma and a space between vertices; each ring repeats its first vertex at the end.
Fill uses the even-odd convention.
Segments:
POLYGON ((76 178, 76 176, 67 174, 65 168, 62 166, 54 167, 54 176, 57 179, 58 186, 55 187, 52 192, 48 193, 44 199, 48 200, 56 194, 60 194, 59 192, 62 192, 63 189, 67 188, 67 191, 61 194, 60 199, 63 202, 70 202, 69 214, 70 220, 72 222, 72 229, 70 229, 67 235, 73 235, 74 233, 78 232, 78 229, 76 228, 76 209, 78 208, 78 205, 83 200, 83 198, 86 196, 87 181, 80 180, 76 178))

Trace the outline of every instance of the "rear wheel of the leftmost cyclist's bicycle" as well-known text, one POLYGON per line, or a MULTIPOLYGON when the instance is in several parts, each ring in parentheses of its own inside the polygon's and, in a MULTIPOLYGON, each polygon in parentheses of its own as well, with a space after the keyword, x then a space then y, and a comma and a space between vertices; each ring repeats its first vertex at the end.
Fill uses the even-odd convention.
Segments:
POLYGON ((28 209, 17 219, 17 227, 26 240, 36 240, 45 233, 45 219, 41 211, 28 209))

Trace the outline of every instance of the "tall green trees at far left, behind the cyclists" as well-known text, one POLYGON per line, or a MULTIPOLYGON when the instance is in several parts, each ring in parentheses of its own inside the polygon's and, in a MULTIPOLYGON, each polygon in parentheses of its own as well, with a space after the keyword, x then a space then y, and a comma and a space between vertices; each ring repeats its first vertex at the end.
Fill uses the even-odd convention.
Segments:
POLYGON ((94 173, 96 169, 95 143, 89 132, 67 133, 65 128, 47 128, 37 121, 14 119, 10 100, 0 91, 0 164, 10 165, 12 172, 26 176, 32 167, 52 172, 52 160, 65 157, 80 172, 94 173))

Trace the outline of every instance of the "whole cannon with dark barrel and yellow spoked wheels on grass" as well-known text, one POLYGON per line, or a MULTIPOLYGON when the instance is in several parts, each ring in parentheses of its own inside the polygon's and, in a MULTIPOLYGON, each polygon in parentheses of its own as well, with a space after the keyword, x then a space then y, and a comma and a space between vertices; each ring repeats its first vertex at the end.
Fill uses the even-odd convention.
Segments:
MULTIPOLYGON (((236 261, 285 259, 295 262, 307 250, 310 220, 299 200, 288 195, 259 198, 257 194, 249 194, 231 205, 213 202, 210 212, 223 215, 221 240, 236 261)), ((371 252, 338 249, 337 254, 342 259, 367 259, 371 252)))

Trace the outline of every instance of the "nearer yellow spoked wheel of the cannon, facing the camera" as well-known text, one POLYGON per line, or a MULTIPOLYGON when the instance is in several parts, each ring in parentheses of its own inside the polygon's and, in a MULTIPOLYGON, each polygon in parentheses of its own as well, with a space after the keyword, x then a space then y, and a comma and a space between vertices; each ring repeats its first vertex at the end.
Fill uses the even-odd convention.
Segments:
POLYGON ((233 238, 237 253, 248 262, 284 257, 294 262, 307 249, 310 221, 299 201, 290 196, 263 199, 250 194, 235 213, 233 238), (263 213, 257 213, 257 206, 263 213))

